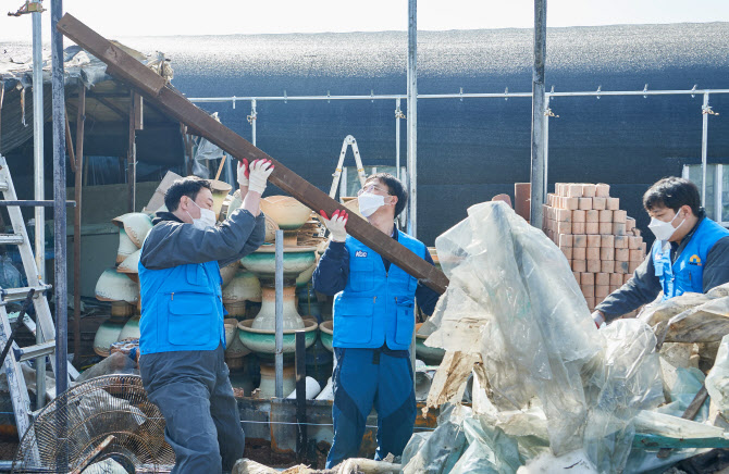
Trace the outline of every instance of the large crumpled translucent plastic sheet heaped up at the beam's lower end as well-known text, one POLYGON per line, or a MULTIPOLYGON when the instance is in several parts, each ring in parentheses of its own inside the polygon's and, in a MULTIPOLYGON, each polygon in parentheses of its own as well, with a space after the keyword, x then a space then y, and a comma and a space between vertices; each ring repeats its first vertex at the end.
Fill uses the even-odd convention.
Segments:
POLYGON ((523 425, 514 411, 539 406, 555 456, 584 448, 601 472, 619 471, 632 417, 663 401, 652 329, 622 320, 598 333, 567 260, 541 230, 502 202, 468 215, 435 241, 450 284, 423 325, 425 345, 480 354, 507 433, 502 414, 523 425))

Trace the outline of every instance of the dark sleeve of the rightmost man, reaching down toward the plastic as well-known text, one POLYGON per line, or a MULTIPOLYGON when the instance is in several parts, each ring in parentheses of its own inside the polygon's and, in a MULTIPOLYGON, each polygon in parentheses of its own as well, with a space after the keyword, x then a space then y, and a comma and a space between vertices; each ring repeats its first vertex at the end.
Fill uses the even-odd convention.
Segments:
POLYGON ((643 263, 635 269, 632 278, 608 295, 595 310, 602 311, 605 321, 613 321, 635 308, 650 303, 663 289, 655 273, 653 258, 648 253, 643 263))

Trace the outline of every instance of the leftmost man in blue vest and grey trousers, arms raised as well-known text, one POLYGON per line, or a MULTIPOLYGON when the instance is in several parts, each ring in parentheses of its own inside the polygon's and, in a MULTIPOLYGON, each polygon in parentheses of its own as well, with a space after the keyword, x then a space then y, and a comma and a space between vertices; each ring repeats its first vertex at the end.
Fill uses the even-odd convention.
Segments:
POLYGON ((210 184, 197 177, 170 186, 141 247, 139 371, 164 416, 175 452, 173 473, 230 471, 243 457, 245 436, 224 362, 225 330, 220 267, 263 244, 259 202, 270 161, 238 166, 243 204, 215 225, 210 184))

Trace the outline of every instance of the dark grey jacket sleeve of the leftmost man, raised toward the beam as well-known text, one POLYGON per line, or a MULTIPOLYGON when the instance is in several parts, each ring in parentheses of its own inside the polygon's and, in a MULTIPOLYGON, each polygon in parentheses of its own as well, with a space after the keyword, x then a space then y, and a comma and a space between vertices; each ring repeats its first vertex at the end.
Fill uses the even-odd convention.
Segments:
POLYGON ((170 269, 188 263, 231 262, 263 244, 265 216, 257 217, 243 209, 220 226, 205 230, 191 224, 162 223, 147 236, 141 264, 150 270, 170 269))

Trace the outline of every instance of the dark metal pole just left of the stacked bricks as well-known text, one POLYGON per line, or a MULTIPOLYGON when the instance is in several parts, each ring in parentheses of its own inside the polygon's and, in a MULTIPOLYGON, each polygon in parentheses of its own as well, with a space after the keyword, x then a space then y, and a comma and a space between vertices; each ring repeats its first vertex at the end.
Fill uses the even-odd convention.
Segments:
POLYGON ((544 204, 544 61, 546 59, 546 0, 534 0, 534 66, 532 68, 532 169, 530 221, 542 225, 544 204))

